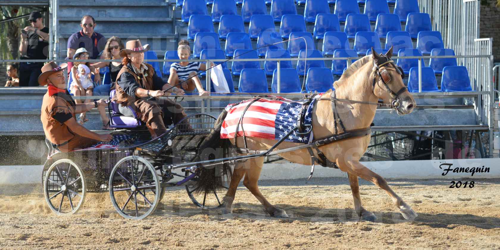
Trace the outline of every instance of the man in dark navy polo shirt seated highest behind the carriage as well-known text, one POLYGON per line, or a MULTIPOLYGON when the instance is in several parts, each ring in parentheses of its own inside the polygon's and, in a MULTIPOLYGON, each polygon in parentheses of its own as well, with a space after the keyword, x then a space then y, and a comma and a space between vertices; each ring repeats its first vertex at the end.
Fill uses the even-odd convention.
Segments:
POLYGON ((84 47, 89 51, 89 59, 96 59, 104 49, 106 38, 94 31, 95 19, 91 15, 81 17, 81 30, 69 36, 67 40, 67 58, 73 58, 76 49, 84 47))

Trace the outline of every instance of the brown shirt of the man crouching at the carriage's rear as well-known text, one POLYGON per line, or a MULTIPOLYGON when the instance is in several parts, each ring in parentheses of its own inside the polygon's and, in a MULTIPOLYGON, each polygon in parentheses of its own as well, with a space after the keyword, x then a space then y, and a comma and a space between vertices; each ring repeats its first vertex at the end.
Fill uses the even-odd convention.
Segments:
POLYGON ((48 91, 43 95, 41 103, 41 123, 45 136, 50 142, 58 145, 74 137, 74 133, 64 122, 75 119, 75 102, 71 95, 66 92, 57 92, 49 95, 48 91))

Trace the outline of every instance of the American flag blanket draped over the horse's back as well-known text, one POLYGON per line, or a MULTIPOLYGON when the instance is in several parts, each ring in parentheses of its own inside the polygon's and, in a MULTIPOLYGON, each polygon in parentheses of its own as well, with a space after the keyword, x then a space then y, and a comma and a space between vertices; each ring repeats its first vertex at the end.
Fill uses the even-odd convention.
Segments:
MULTIPOLYGON (((245 136, 248 137, 279 140, 296 126, 298 119, 300 119, 302 104, 307 101, 306 99, 292 101, 280 96, 266 97, 268 98, 260 98, 248 107, 237 129, 237 136, 243 136, 244 130, 245 136)), ((312 122, 312 108, 316 102, 315 98, 311 100, 305 108, 306 110, 303 110, 305 112, 304 125, 310 125, 312 122)), ((222 122, 220 138, 234 138, 241 114, 254 99, 229 104, 225 107, 227 116, 222 122)), ((306 126, 305 129, 304 132, 307 133, 297 134, 294 131, 285 141, 310 143, 313 138, 312 131, 310 131, 310 126, 306 126)))

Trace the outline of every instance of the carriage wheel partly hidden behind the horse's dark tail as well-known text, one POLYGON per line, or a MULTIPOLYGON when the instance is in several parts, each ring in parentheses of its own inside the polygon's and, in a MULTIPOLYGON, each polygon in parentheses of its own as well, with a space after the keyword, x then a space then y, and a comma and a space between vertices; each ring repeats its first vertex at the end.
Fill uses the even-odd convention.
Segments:
MULTIPOLYGON (((190 175, 192 172, 185 172, 185 176, 190 175)), ((192 184, 187 184, 186 185, 186 191, 187 195, 189 198, 192 200, 192 202, 203 209, 215 209, 222 207, 222 197, 224 196, 224 193, 220 195, 220 192, 217 193, 217 191, 213 192, 196 192, 198 187, 196 187, 196 180, 198 179, 197 176, 191 179, 190 183, 192 184)), ((223 186, 223 191, 229 189, 227 186, 223 186)))

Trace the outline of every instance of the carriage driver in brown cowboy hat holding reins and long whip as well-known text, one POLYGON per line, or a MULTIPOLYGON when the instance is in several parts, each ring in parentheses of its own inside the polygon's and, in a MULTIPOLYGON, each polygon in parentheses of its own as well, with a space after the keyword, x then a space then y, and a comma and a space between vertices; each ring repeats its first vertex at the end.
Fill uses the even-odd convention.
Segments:
POLYGON ((186 114, 180 104, 168 98, 148 98, 160 97, 166 92, 183 95, 184 90, 163 81, 150 64, 143 62, 147 50, 149 44, 142 46, 139 40, 127 41, 125 48, 120 50, 123 67, 116 76, 116 94, 112 100, 120 104, 118 107, 123 115, 133 116, 126 106, 133 108, 146 123, 151 136, 156 137, 166 131, 165 124, 175 124, 186 114))

